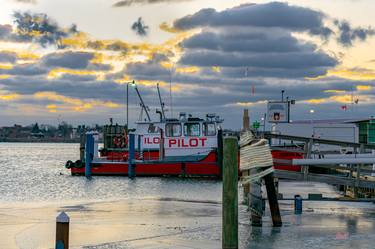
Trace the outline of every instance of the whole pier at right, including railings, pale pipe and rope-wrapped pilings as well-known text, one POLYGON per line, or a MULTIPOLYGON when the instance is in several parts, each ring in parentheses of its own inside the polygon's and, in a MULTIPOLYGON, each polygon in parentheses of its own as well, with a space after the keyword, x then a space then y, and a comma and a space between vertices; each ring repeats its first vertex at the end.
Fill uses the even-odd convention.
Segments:
MULTIPOLYGON (((321 193, 310 193, 309 201, 374 201, 369 197, 374 196, 375 190, 375 177, 372 176, 375 173, 373 169, 375 155, 369 152, 375 149, 375 145, 272 133, 263 134, 262 138, 259 138, 251 131, 247 131, 241 134, 239 147, 244 203, 250 210, 253 226, 262 225, 265 206, 261 192, 262 184, 266 185, 274 226, 282 225, 278 199, 294 200, 295 213, 302 213, 303 198, 296 194, 293 199, 283 199, 282 194, 277 193, 274 185, 275 180, 278 181, 278 179, 328 183, 343 190, 350 198, 324 198, 321 193), (282 140, 285 143, 283 146, 269 146, 269 141, 272 139, 282 140), (288 146, 288 143, 293 146, 288 146), (316 144, 342 146, 353 151, 354 154, 317 151, 314 150, 316 144), (271 150, 300 153, 302 158, 287 160, 273 158, 271 150), (289 169, 292 170, 275 169, 273 165, 276 164, 291 166, 289 169)), ((226 156, 225 153, 224 156, 226 156)), ((224 170, 225 167, 224 163, 224 170)), ((225 179, 225 175, 223 177, 225 179)))

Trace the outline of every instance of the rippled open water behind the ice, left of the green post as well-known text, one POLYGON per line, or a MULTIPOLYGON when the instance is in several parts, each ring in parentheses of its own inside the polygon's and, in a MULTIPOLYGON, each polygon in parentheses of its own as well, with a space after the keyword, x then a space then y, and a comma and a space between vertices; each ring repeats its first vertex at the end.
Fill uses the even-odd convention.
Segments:
POLYGON ((79 144, 0 143, 0 201, 221 199, 221 183, 214 180, 73 177, 64 166, 79 158, 78 148, 79 144))

